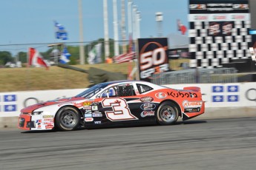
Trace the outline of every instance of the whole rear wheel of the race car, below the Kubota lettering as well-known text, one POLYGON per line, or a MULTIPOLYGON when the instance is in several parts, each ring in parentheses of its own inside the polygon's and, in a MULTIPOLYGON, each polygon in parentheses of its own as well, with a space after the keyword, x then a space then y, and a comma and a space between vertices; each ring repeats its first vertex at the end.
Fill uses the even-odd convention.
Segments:
POLYGON ((157 123, 160 125, 174 124, 179 117, 179 112, 176 104, 171 101, 161 103, 157 109, 157 123))

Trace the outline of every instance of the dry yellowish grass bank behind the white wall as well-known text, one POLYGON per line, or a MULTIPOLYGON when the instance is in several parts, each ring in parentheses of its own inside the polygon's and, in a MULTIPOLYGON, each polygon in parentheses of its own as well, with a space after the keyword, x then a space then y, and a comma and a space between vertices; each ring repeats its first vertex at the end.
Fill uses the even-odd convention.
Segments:
MULTIPOLYGON (((170 62, 172 69, 180 69, 180 63, 184 60, 174 60, 170 62)), ((133 64, 134 66, 134 64, 133 64)), ((82 69, 96 67, 108 72, 122 72, 128 74, 128 63, 123 64, 94 64, 76 65, 82 69)), ((60 67, 45 68, 2 68, 0 69, 0 92, 16 92, 27 90, 44 89, 83 89, 88 87, 88 74, 77 72, 71 69, 60 67)))

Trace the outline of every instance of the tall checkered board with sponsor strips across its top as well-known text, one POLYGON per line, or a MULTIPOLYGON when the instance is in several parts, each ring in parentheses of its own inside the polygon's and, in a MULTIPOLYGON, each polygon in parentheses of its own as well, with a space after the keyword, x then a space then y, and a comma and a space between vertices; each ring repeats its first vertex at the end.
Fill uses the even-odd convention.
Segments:
POLYGON ((189 0, 189 66, 219 68, 250 58, 249 8, 249 0, 189 0))

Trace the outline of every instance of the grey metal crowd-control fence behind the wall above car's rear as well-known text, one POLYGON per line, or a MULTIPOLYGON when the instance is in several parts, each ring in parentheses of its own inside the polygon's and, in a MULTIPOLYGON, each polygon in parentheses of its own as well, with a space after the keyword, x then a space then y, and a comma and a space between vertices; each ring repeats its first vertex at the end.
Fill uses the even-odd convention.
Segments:
POLYGON ((154 74, 151 82, 154 84, 210 84, 237 82, 237 69, 183 69, 173 72, 154 74))

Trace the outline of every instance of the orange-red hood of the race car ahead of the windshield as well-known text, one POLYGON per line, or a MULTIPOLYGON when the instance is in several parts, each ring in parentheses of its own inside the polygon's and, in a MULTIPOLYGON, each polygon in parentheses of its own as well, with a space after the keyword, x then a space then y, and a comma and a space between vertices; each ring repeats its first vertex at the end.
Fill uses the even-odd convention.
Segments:
POLYGON ((45 101, 45 102, 42 102, 42 103, 36 103, 36 104, 31 105, 31 106, 27 106, 24 109, 22 109, 21 112, 22 113, 30 113, 30 112, 33 112, 35 109, 39 109, 39 108, 44 107, 44 106, 50 106, 50 105, 53 105, 53 104, 62 104, 62 103, 68 103, 68 102, 75 102, 75 101, 81 101, 81 100, 85 100, 85 98, 73 97, 73 98, 57 99, 57 100, 54 100, 54 101, 45 101))

